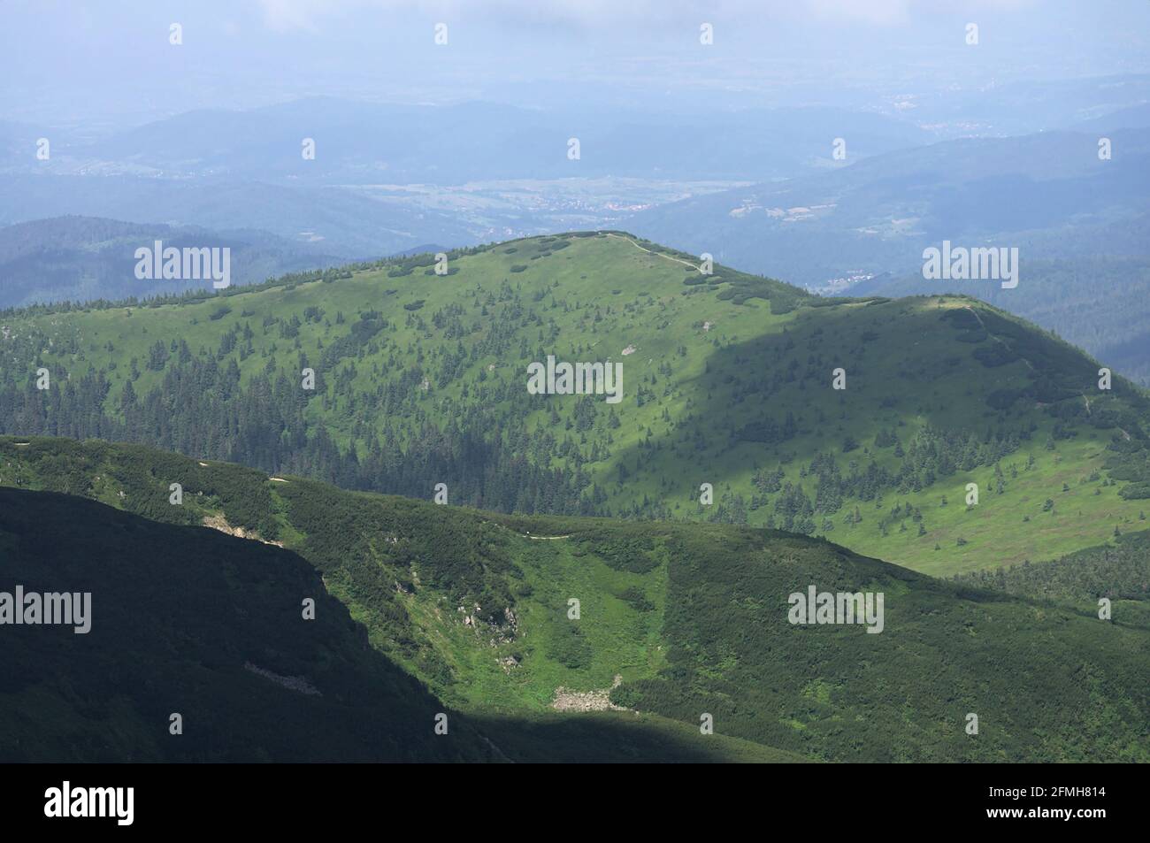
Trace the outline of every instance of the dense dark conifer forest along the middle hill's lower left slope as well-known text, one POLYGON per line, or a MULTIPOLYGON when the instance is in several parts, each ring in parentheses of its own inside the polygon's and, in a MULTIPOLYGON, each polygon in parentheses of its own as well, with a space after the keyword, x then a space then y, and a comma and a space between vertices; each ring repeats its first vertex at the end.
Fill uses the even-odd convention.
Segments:
MULTIPOLYGON (((129 382, 120 413, 107 412, 110 383, 103 371, 57 382, 52 390, 0 383, 0 432, 139 442, 266 472, 286 472, 347 489, 427 498, 446 483, 451 501, 507 512, 582 512, 585 475, 543 468, 523 453, 522 436, 498 436, 496 414, 471 405, 442 427, 424 422, 400 442, 393 429, 373 436, 366 450, 337 446, 322 420, 307 417, 308 400, 286 373, 258 375, 240 385, 233 359, 214 357, 170 363, 163 382, 145 396, 129 382), (494 434, 492 431, 496 431, 494 434)), ((383 412, 402 382, 374 396, 383 412)), ((408 385, 409 386, 409 385, 408 385)), ((373 401, 375 404, 376 401, 373 401)), ((516 431, 512 431, 514 434, 516 431)), ((368 436, 367 428, 360 430, 368 436)))

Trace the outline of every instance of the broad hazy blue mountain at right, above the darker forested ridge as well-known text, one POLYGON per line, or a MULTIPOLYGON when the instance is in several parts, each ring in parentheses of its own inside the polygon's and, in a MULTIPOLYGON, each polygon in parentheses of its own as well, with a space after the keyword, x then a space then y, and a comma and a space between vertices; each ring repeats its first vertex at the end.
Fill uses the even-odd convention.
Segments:
POLYGON ((1111 140, 1106 161, 1092 133, 949 140, 662 205, 627 225, 810 288, 921 271, 922 250, 944 239, 1017 246, 1023 262, 1147 256, 1150 145, 1141 130, 1111 140))

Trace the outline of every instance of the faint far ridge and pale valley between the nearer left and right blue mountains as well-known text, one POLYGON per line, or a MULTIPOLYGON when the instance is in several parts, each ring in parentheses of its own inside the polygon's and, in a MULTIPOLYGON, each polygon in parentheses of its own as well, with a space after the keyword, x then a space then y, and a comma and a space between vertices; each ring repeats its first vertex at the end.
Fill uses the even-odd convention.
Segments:
POLYGON ((931 137, 900 120, 831 107, 716 108, 700 117, 656 105, 437 107, 327 97, 197 110, 99 139, 0 123, 0 224, 82 214, 258 229, 356 260, 427 243, 606 227, 668 198, 839 166, 833 143, 843 136, 853 155, 931 137), (46 160, 36 155, 40 137, 51 145, 46 160))

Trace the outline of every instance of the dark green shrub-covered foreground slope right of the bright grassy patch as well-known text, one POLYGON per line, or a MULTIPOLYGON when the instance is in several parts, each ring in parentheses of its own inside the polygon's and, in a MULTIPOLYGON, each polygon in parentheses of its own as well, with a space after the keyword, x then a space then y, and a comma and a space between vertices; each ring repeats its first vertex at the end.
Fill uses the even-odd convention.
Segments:
POLYGON ((708 712, 716 731, 834 761, 1150 758, 1144 629, 1060 607, 1033 620, 1012 598, 821 539, 662 527, 667 666, 615 689, 620 705, 692 723, 708 712), (882 634, 789 623, 787 596, 810 583, 884 592, 882 634))

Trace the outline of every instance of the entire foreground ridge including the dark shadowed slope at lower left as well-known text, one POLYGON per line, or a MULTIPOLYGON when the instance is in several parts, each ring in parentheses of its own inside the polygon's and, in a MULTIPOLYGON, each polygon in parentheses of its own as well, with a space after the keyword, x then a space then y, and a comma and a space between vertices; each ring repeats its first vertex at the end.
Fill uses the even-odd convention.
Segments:
POLYGON ((43 590, 93 595, 87 637, 18 630, 26 667, 0 687, 0 728, 22 722, 14 712, 31 693, 31 710, 53 718, 49 735, 61 713, 79 715, 77 696, 86 718, 112 708, 132 726, 117 733, 121 753, 166 741, 148 729, 178 705, 189 745, 213 714, 223 731, 253 712, 290 725, 309 711, 300 739, 337 756, 361 731, 423 723, 435 707, 414 684, 392 702, 394 662, 460 710, 450 738, 407 735, 419 748, 408 751, 435 758, 474 746, 474 728, 494 760, 1148 760, 1144 554, 1122 567, 1099 558, 1090 582, 1063 573, 1055 600, 944 583, 776 530, 500 515, 137 445, 3 437, 0 486, 0 542, 16 554, 5 587, 14 570, 43 590), (881 631, 790 622, 789 596, 812 585, 883 595, 881 631), (316 597, 315 627, 299 621, 301 593, 316 597), (1113 597, 1112 622, 1097 616, 1099 595, 1113 597), (235 687, 217 689, 217 675, 235 687), (29 676, 40 677, 34 690, 29 676), (373 691, 379 676, 391 685, 373 691), (704 715, 715 735, 700 734, 704 715))

